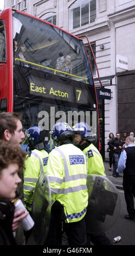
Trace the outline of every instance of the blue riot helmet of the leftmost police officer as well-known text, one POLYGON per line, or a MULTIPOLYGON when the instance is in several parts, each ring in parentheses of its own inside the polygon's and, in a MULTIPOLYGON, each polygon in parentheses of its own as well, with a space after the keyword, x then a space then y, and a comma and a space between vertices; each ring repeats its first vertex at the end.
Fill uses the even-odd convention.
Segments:
POLYGON ((48 135, 47 131, 41 129, 41 127, 30 127, 25 131, 25 136, 27 137, 30 150, 41 150, 46 148, 46 143, 48 143, 48 135))

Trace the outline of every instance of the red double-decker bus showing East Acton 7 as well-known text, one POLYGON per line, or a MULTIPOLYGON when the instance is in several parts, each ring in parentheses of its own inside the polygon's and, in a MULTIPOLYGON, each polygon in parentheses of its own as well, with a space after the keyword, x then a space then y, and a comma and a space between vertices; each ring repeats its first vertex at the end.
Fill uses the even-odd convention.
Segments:
POLYGON ((3 10, 0 111, 20 112, 24 130, 85 121, 99 147, 97 94, 82 38, 21 11, 3 10))

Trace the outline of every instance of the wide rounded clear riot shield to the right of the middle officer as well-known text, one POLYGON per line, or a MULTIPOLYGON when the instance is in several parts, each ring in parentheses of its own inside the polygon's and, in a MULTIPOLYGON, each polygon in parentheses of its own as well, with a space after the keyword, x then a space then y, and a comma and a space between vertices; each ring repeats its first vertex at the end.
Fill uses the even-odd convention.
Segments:
POLYGON ((98 234, 112 227, 120 212, 120 196, 104 176, 88 174, 88 207, 85 215, 88 233, 98 234))

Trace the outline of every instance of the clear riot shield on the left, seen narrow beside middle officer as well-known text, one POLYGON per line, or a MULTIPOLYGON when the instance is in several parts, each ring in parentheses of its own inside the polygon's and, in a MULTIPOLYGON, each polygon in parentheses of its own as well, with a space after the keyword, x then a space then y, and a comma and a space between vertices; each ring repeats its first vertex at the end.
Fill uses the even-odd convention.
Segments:
POLYGON ((51 192, 48 176, 42 173, 36 183, 32 205, 32 217, 35 222, 32 236, 36 245, 43 245, 49 230, 51 210, 51 192))

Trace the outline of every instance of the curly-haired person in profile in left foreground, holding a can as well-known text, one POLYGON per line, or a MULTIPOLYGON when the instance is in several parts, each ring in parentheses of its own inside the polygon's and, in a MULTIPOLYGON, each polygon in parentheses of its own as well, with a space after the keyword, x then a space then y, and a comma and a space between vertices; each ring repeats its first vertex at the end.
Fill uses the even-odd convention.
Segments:
POLYGON ((18 228, 21 215, 24 218, 29 214, 23 209, 15 212, 11 202, 16 196, 17 184, 21 182, 18 169, 23 167, 24 160, 25 153, 17 144, 0 141, 0 245, 17 245, 13 231, 18 228))

